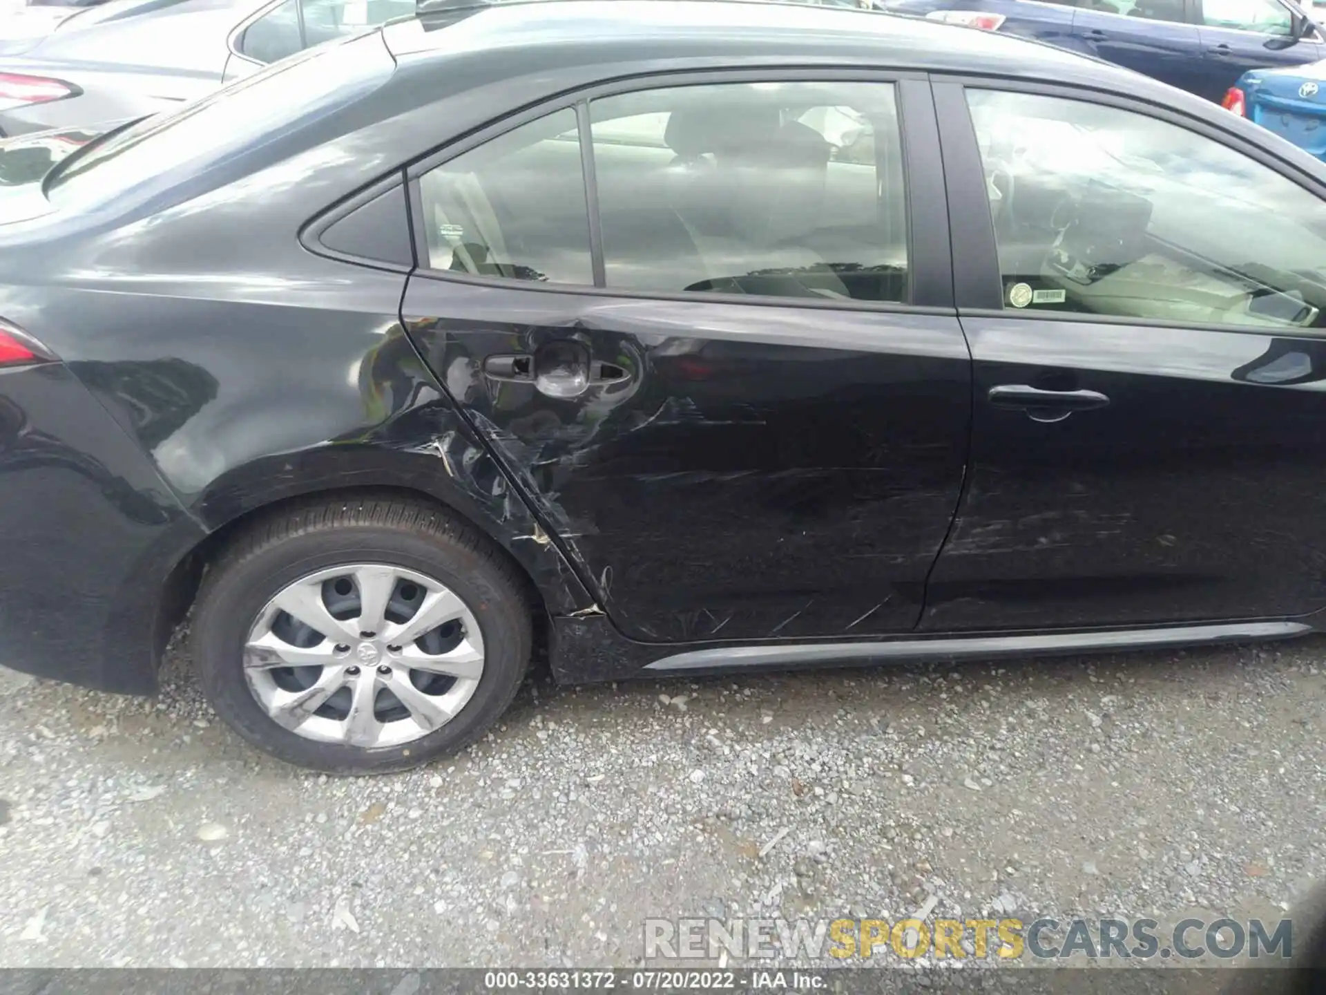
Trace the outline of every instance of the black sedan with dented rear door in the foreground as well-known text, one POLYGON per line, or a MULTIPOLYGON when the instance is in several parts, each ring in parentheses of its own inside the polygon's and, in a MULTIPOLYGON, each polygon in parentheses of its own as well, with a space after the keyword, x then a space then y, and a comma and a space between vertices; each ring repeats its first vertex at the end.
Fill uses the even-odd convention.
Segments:
POLYGON ((0 154, 4 663, 383 771, 561 681, 1326 616, 1326 167, 878 13, 516 3, 0 154), (443 25, 443 27, 439 27, 443 25), (12 167, 11 167, 12 166, 12 167))

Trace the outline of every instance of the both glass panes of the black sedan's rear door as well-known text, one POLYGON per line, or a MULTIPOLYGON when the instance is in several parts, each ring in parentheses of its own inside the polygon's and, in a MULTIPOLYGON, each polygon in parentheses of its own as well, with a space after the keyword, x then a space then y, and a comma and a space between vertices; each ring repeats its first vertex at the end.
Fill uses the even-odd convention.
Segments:
POLYGON ((589 115, 589 134, 560 110, 426 172, 430 268, 636 293, 908 298, 892 84, 672 86, 593 101, 589 115))

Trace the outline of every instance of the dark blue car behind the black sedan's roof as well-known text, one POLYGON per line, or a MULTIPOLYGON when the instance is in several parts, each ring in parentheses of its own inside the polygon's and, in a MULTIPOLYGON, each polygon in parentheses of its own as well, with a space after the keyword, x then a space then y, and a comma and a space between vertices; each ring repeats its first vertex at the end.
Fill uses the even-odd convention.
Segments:
POLYGON ((1037 38, 1220 102, 1252 69, 1326 58, 1294 0, 882 0, 932 20, 1037 38))

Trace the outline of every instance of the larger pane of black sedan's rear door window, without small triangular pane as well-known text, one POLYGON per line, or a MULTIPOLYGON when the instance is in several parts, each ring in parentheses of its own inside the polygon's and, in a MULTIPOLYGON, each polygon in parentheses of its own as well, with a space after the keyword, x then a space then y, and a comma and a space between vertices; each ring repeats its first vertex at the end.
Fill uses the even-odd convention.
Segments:
POLYGON ((906 300, 891 84, 678 86, 590 115, 609 288, 906 300))

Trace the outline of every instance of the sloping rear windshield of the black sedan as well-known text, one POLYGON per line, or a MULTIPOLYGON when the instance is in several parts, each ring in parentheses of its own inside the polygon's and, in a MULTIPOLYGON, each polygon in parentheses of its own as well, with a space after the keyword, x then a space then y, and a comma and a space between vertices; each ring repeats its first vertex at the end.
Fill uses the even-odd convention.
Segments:
POLYGON ((377 34, 302 52, 89 145, 46 178, 46 196, 57 207, 81 208, 202 175, 353 103, 394 69, 377 34))

